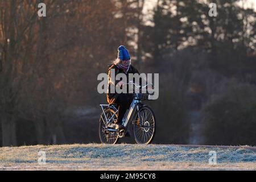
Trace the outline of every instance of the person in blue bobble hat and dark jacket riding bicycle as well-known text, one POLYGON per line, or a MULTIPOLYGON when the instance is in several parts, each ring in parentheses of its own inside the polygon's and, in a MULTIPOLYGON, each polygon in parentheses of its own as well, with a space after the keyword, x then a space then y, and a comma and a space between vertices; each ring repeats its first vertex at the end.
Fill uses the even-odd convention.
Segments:
POLYGON ((110 86, 113 84, 114 86, 122 87, 126 83, 122 80, 114 80, 114 78, 110 77, 110 71, 114 69, 115 75, 118 73, 125 73, 128 80, 129 73, 138 73, 138 70, 131 65, 131 57, 129 51, 126 49, 125 46, 118 47, 118 55, 117 59, 113 61, 113 64, 109 67, 108 76, 109 76, 109 87, 107 93, 107 101, 109 105, 116 104, 118 106, 118 117, 117 121, 115 122, 115 129, 123 129, 124 126, 122 125, 122 119, 126 113, 126 110, 129 109, 131 102, 133 101, 133 94, 129 93, 109 93, 110 86))

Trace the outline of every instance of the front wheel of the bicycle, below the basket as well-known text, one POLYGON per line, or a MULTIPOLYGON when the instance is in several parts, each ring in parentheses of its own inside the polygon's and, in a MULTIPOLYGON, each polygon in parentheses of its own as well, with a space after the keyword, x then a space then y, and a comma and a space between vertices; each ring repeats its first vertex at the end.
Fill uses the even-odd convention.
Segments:
POLYGON ((156 123, 155 114, 148 106, 143 106, 135 114, 133 125, 134 138, 138 144, 150 144, 155 137, 156 123), (139 114, 141 121, 139 120, 139 114))

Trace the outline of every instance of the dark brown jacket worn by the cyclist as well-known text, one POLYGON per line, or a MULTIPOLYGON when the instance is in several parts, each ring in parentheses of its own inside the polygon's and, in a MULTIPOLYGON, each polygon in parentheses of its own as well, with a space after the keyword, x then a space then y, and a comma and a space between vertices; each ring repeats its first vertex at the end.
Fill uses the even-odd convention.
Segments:
MULTIPOLYGON (((109 71, 108 71, 108 76, 109 76, 109 85, 108 85, 108 91, 110 91, 110 84, 112 84, 112 81, 110 81, 110 69, 115 69, 115 76, 117 76, 118 73, 125 73, 122 69, 118 69, 117 65, 115 64, 112 64, 110 67, 109 67, 109 71)), ((136 68, 133 67, 133 65, 130 66, 128 72, 126 73, 126 76, 127 76, 127 80, 128 80, 128 75, 129 73, 138 73, 138 70, 136 68)), ((118 84, 120 80, 115 80, 115 86, 118 84)), ((107 101, 109 104, 113 104, 115 103, 115 101, 117 100, 117 97, 118 97, 118 93, 107 93, 107 101)))

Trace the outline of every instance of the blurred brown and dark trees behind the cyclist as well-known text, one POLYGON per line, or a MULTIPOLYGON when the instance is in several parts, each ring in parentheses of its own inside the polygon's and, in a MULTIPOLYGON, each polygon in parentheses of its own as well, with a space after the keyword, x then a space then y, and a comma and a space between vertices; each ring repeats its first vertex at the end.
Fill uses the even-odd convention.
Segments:
POLYGON ((42 2, 0 1, 0 146, 100 142, 97 75, 121 44, 160 74, 154 143, 256 145, 255 1, 42 2))

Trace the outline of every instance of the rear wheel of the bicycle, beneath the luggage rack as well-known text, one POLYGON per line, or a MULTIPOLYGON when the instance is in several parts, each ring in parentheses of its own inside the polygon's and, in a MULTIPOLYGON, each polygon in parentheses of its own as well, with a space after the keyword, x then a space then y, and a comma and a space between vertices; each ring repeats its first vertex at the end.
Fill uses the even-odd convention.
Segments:
MULTIPOLYGON (((107 108, 105 110, 105 115, 106 115, 106 118, 108 118, 108 120, 112 118, 108 125, 110 125, 111 123, 114 123, 114 121, 117 119, 117 114, 115 114, 115 111, 113 109, 107 108)), ((116 144, 119 140, 117 132, 109 131, 107 130, 107 127, 108 126, 106 126, 104 113, 102 113, 100 117, 100 124, 99 124, 99 130, 98 130, 101 143, 116 144)))

